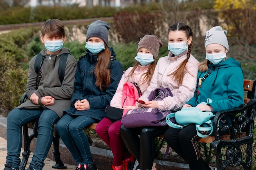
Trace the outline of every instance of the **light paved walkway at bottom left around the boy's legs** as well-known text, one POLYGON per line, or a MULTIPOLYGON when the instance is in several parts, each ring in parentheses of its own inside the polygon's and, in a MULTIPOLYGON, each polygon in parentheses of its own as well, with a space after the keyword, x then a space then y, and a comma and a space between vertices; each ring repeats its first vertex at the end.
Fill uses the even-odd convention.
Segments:
MULTIPOLYGON (((21 149, 21 152, 23 151, 23 148, 21 149)), ((31 161, 31 155, 33 155, 34 153, 31 152, 30 156, 29 156, 29 161, 27 163, 27 167, 29 166, 29 163, 31 161)), ((4 163, 6 163, 6 155, 7 155, 7 141, 6 139, 0 137, 0 170, 4 169, 4 163)), ((20 157, 22 159, 22 157, 20 157)), ((43 167, 43 170, 54 170, 54 168, 52 168, 52 166, 55 165, 55 161, 52 161, 49 158, 45 159, 45 166, 43 167)), ((65 163, 65 166, 67 166, 67 169, 65 170, 75 170, 76 166, 74 165, 69 165, 67 163, 65 163)), ((56 169, 57 170, 57 169, 56 169)))

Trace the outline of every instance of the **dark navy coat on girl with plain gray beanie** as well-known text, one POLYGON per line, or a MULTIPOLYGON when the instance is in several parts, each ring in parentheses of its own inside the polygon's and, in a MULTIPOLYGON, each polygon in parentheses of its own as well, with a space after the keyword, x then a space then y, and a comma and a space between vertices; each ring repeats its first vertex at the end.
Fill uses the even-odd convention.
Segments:
MULTIPOLYGON (((111 55, 115 57, 113 48, 109 48, 111 55)), ((69 115, 83 115, 94 119, 101 120, 105 116, 105 108, 110 105, 110 101, 114 96, 118 83, 121 79, 123 68, 118 60, 113 60, 110 73, 111 84, 105 91, 101 91, 96 87, 96 76, 92 73, 93 68, 96 66, 98 55, 93 55, 88 49, 85 55, 81 57, 76 69, 76 77, 74 83, 74 93, 71 98, 72 107, 64 110, 64 113, 69 115), (74 108, 77 100, 87 99, 90 104, 90 109, 78 111, 74 108)))

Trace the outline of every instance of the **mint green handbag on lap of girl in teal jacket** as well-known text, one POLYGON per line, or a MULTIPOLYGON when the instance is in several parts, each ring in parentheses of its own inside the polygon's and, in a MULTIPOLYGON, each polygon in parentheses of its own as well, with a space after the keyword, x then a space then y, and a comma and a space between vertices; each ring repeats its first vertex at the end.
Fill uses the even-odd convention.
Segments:
POLYGON ((166 117, 166 123, 172 128, 183 129, 189 124, 195 124, 197 135, 199 137, 207 137, 213 132, 213 126, 211 124, 211 118, 213 117, 211 112, 200 111, 199 108, 189 107, 182 108, 176 113, 171 113, 166 117), (173 119, 175 122, 173 123, 173 119), (200 125, 207 125, 208 127, 201 127, 200 125), (208 135, 202 135, 199 131, 210 131, 208 135))

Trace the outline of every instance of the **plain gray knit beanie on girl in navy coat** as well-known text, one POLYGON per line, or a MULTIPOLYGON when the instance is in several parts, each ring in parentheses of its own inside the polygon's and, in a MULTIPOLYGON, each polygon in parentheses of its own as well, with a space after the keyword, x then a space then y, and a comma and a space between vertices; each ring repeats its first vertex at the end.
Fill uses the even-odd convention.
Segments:
POLYGON ((92 22, 92 24, 87 26, 86 42, 90 37, 101 38, 108 46, 108 30, 110 29, 110 24, 105 21, 97 20, 92 22))

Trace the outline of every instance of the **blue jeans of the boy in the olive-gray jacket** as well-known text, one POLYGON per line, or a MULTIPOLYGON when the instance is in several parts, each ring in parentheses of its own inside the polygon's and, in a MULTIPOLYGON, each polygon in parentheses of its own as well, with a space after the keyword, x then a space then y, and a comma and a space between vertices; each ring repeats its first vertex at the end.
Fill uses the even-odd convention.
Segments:
POLYGON ((6 163, 12 168, 20 166, 20 150, 22 146, 22 126, 31 121, 38 121, 38 137, 36 149, 30 162, 30 166, 36 170, 42 170, 43 161, 52 144, 54 124, 60 119, 58 115, 49 109, 19 109, 14 108, 7 117, 7 157, 6 163))

